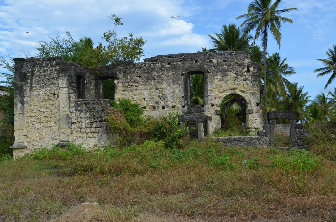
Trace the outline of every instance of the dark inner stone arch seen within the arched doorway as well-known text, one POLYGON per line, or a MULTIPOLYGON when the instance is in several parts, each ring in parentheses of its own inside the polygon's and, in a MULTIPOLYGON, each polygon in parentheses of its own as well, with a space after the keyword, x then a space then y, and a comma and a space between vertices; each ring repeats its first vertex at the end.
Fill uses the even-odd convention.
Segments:
MULTIPOLYGON (((223 97, 223 100, 221 102, 221 125, 223 124, 223 120, 226 118, 227 116, 227 109, 234 103, 239 103, 242 107, 242 111, 241 114, 243 115, 242 118, 242 125, 244 125, 244 128, 248 128, 248 106, 247 106, 247 101, 246 99, 237 94, 237 93, 230 93, 228 95, 226 95, 225 97, 223 97), (231 97, 231 98, 227 98, 227 97, 231 97), (225 100, 225 101, 224 101, 225 100)), ((222 127, 221 127, 222 128, 222 127)))

